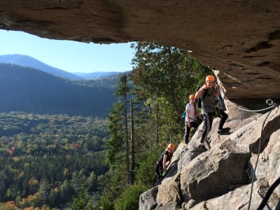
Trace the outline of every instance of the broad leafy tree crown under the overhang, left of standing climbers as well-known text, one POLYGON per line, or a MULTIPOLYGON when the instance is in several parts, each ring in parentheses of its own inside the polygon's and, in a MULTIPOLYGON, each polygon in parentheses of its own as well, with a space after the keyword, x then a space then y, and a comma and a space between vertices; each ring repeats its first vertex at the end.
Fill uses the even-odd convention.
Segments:
POLYGON ((138 43, 130 78, 135 94, 147 100, 151 119, 157 119, 158 134, 166 144, 183 139, 181 113, 197 83, 210 72, 186 50, 155 43, 138 43))

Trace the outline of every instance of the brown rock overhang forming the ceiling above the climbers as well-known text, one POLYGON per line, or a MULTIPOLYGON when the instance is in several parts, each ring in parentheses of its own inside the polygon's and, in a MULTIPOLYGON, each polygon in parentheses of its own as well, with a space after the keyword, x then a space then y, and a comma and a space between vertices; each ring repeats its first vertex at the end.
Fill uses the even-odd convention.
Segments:
POLYGON ((0 29, 94 43, 151 41, 217 69, 229 99, 280 96, 280 1, 0 1, 0 29))

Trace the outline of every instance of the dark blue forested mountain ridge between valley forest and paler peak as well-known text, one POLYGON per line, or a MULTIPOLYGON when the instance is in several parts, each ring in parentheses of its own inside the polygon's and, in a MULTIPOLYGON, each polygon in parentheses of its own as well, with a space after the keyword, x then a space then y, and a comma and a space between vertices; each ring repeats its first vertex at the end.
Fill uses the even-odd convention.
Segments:
POLYGON ((0 112, 100 116, 113 102, 118 76, 68 80, 30 67, 0 64, 0 112))

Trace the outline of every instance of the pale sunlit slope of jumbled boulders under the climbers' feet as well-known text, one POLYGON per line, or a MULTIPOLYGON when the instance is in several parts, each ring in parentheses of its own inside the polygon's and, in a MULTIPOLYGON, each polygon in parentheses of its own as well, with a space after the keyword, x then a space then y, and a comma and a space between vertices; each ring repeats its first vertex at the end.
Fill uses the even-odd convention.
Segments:
MULTIPOLYGON (((246 112, 230 109, 237 116, 246 112)), ((201 126, 187 149, 181 143, 174 153, 176 173, 167 174, 155 187, 158 194, 153 196, 152 208, 146 208, 151 199, 144 200, 147 193, 143 193, 139 209, 248 209, 249 204, 250 209, 257 209, 279 179, 280 108, 276 105, 263 114, 242 116, 246 118, 230 116, 223 134, 217 134, 218 118, 214 119, 209 134, 211 148, 207 146, 205 151, 196 147, 201 126)), ((279 199, 280 186, 265 208, 276 209, 279 199)))

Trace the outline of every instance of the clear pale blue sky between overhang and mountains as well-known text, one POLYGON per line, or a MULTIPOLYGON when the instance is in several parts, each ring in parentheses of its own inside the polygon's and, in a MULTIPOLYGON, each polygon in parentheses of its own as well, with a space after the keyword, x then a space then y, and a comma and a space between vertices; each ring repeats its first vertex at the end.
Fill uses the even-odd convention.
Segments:
POLYGON ((0 55, 29 55, 69 72, 130 71, 134 57, 134 49, 130 45, 58 41, 0 29, 0 55))

